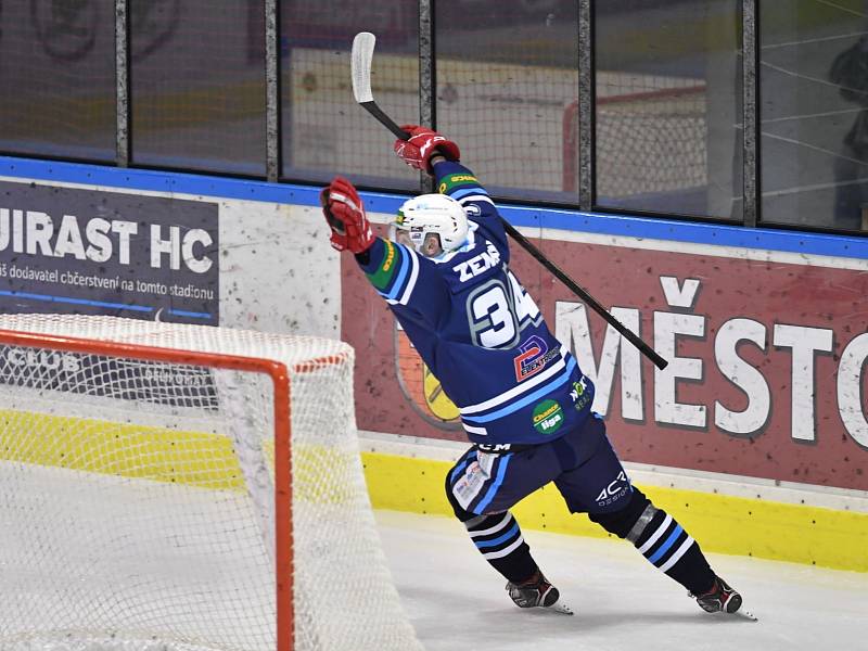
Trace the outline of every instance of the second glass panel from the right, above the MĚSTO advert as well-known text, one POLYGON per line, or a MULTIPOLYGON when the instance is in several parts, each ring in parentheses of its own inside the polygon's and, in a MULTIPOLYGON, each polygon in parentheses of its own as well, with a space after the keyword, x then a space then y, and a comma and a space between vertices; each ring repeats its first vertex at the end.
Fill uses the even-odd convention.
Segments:
POLYGON ((742 218, 741 2, 598 2, 596 204, 742 218))

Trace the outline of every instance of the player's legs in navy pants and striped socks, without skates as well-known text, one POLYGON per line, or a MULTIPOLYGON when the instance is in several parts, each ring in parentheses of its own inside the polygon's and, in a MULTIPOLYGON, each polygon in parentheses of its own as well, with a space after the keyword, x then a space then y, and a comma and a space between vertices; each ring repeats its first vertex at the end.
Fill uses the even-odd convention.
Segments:
POLYGON ((554 482, 572 513, 626 538, 659 570, 694 595, 714 583, 699 545, 641 490, 630 485, 598 417, 550 443, 520 451, 469 449, 446 476, 456 518, 490 565, 520 583, 537 571, 510 508, 554 482))

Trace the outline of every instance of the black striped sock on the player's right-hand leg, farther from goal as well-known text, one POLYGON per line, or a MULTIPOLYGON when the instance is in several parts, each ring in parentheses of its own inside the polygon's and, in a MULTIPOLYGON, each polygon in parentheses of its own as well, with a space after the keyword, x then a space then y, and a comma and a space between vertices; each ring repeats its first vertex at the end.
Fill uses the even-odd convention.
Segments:
POLYGON ((651 502, 647 503, 626 538, 649 563, 691 593, 700 595, 714 585, 714 572, 699 544, 672 515, 651 502))

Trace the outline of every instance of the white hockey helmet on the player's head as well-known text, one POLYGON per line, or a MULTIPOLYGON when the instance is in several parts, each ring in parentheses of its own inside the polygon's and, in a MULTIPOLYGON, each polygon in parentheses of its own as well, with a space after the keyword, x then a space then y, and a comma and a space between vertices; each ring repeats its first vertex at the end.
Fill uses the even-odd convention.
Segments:
POLYGON ((460 248, 468 239, 468 216, 461 204, 446 194, 420 194, 398 208, 392 226, 409 235, 421 253, 425 238, 436 233, 444 251, 460 248))

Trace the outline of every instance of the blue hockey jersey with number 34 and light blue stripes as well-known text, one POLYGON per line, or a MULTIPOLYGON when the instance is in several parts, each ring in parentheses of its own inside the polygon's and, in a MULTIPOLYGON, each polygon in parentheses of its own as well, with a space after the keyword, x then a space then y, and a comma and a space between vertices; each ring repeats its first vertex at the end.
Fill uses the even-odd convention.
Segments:
POLYGON ((378 239, 362 270, 459 408, 471 442, 557 438, 588 417, 593 385, 510 270, 500 216, 476 177, 448 162, 435 174, 439 192, 468 215, 464 245, 426 258, 378 239))

